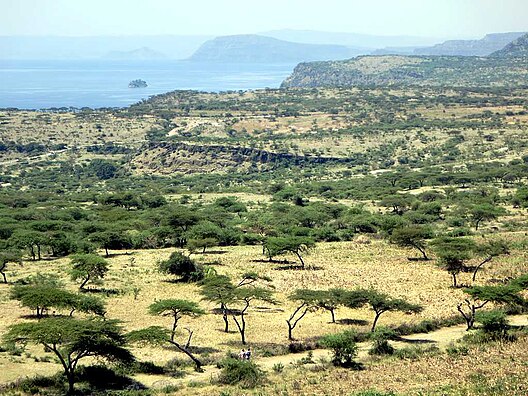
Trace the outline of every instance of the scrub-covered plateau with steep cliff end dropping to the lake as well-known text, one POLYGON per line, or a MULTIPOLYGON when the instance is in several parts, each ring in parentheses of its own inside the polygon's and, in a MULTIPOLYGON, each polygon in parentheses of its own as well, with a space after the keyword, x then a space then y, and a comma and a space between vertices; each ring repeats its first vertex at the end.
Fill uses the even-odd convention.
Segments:
POLYGON ((528 59, 522 58, 362 56, 346 61, 301 63, 281 87, 522 86, 527 76, 528 59))

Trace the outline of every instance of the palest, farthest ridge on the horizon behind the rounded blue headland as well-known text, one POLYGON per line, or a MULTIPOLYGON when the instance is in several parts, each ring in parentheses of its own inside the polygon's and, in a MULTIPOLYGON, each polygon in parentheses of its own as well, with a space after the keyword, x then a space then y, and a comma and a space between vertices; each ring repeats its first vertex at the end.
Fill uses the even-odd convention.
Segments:
POLYGON ((436 44, 439 38, 414 36, 377 36, 359 33, 321 32, 316 30, 272 30, 260 33, 263 36, 279 40, 307 44, 338 44, 347 47, 362 48, 367 54, 377 48, 385 47, 423 47, 436 44), (370 50, 370 51, 369 51, 370 50))

